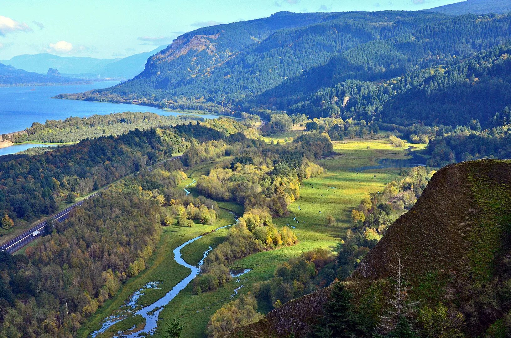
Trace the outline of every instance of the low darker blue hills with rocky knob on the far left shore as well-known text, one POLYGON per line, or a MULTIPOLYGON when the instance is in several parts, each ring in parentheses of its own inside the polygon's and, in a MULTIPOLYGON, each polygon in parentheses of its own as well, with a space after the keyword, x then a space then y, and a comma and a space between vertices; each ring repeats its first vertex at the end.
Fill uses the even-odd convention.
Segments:
POLYGON ((90 83, 90 81, 60 76, 57 69, 48 69, 47 74, 38 74, 0 63, 0 87, 83 83, 90 83))

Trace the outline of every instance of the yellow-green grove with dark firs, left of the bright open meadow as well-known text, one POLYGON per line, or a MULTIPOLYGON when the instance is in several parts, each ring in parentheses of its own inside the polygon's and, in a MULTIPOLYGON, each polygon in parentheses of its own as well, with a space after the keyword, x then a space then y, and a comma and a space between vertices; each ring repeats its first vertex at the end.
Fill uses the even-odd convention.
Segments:
POLYGON ((318 134, 298 137, 283 147, 259 141, 258 147, 246 149, 229 165, 201 177, 197 190, 216 200, 240 203, 246 210, 267 208, 281 216, 299 197, 301 180, 323 173, 314 157, 331 150, 328 136, 318 134))

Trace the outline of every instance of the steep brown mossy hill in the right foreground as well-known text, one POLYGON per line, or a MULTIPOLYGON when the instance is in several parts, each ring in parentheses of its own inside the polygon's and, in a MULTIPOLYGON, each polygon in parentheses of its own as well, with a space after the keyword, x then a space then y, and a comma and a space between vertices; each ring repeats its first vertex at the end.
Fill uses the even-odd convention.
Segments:
MULTIPOLYGON (((442 303, 449 315, 463 316, 466 336, 505 337, 504 327, 511 324, 511 161, 442 168, 365 256, 346 284, 357 312, 374 324, 386 306, 397 252, 418 310, 442 303)), ((305 336, 330 289, 286 303, 229 337, 305 336)))

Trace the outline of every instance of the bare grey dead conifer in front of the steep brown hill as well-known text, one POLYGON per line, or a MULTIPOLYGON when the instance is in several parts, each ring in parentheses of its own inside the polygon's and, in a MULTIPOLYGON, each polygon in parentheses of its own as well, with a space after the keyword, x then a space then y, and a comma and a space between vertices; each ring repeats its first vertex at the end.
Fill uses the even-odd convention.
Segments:
POLYGON ((407 274, 404 272, 405 265, 401 262, 401 251, 398 251, 394 256, 396 257, 397 264, 390 263, 392 268, 390 277, 394 281, 390 288, 393 291, 393 295, 387 298, 388 306, 384 309, 383 314, 379 316, 380 323, 376 327, 381 333, 388 333, 396 328, 401 316, 408 319, 412 318, 415 307, 419 303, 411 302, 407 299, 408 288, 405 285, 407 274))

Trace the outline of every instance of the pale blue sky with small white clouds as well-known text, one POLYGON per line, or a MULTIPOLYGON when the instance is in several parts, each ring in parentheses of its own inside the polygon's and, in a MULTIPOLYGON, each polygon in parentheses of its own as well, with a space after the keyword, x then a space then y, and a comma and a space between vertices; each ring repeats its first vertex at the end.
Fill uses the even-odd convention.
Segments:
POLYGON ((422 10, 460 0, 2 0, 0 60, 20 54, 121 58, 184 32, 278 11, 422 10))

